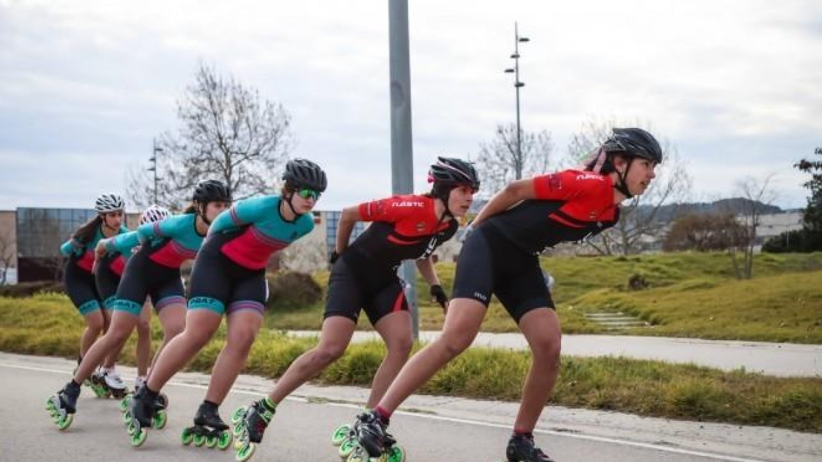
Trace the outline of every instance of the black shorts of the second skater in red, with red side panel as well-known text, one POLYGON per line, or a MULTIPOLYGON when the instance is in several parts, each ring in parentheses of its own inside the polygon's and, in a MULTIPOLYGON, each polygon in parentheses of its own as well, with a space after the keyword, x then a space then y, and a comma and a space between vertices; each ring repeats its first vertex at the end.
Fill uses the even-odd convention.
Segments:
POLYGON ((371 275, 355 273, 340 258, 331 268, 323 317, 345 316, 356 323, 364 309, 373 326, 382 316, 409 310, 403 289, 394 270, 375 271, 371 275))

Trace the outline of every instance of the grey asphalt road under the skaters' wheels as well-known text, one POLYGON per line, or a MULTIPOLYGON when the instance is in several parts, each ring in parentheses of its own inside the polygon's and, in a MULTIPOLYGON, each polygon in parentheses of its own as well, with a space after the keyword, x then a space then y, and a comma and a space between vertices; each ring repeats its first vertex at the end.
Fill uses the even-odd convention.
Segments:
MULTIPOLYGON (((10 357, 9 357, 10 358, 10 357)), ((39 359, 39 358, 38 358, 39 359)), ((101 400, 84 387, 72 427, 60 432, 44 409, 44 400, 69 377, 71 363, 27 363, 0 361, 0 460, 82 460, 84 462, 174 462, 233 460, 233 451, 184 447, 179 435, 191 425, 193 414, 205 395, 198 383, 173 381, 169 395, 169 425, 151 430, 141 448, 132 448, 122 425, 116 400, 101 400)), ((260 396, 259 390, 233 391, 221 407, 229 413, 260 396)), ((347 423, 357 412, 354 404, 330 400, 288 400, 280 405, 274 422, 253 460, 336 462, 339 457, 330 445, 330 432, 347 423)), ((427 413, 400 413, 393 419, 392 432, 408 450, 410 461, 477 462, 499 460, 504 455, 510 429, 507 425, 482 419, 447 418, 427 413)), ((712 450, 689 450, 616 438, 589 437, 573 433, 539 431, 537 440, 557 462, 607 460, 627 461, 706 461, 758 460, 718 454, 712 450)), ((725 448, 727 450, 727 448, 725 448)), ((778 459, 769 459, 778 460, 778 459)))

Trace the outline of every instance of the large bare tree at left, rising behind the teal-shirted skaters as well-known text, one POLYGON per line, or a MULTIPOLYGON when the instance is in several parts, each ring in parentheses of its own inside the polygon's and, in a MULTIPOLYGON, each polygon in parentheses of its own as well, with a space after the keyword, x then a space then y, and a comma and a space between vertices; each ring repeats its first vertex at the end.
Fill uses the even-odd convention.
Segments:
MULTIPOLYGON (((177 114, 178 133, 159 137, 159 203, 178 209, 197 182, 210 178, 226 182, 235 199, 274 191, 293 143, 291 118, 281 104, 201 62, 177 114)), ((129 173, 128 192, 137 205, 149 205, 153 190, 145 168, 129 173)))

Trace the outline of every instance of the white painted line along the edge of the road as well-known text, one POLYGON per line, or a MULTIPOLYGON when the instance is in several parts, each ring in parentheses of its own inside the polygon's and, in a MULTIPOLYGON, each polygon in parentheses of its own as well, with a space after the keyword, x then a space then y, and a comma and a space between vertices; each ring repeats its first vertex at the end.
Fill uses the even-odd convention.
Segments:
MULTIPOLYGON (((48 367, 22 366, 20 364, 9 364, 9 363, 0 363, 0 367, 11 367, 13 369, 23 369, 23 370, 27 370, 27 371, 37 371, 37 372, 52 372, 52 373, 57 373, 57 374, 66 374, 66 373, 68 373, 68 371, 62 370, 62 369, 50 369, 48 367)), ((199 384, 195 384, 195 383, 185 383, 185 382, 179 382, 179 381, 169 381, 169 385, 183 386, 183 387, 187 387, 187 388, 196 388, 198 390, 206 390, 208 388, 207 386, 204 386, 204 385, 199 385, 199 384)), ((231 390, 231 392, 235 393, 235 394, 238 394, 238 395, 249 395, 249 396, 256 396, 256 397, 263 396, 263 394, 261 394, 261 393, 254 392, 254 391, 248 391, 248 390, 231 390)), ((297 401, 297 402, 300 402, 300 403, 307 403, 309 401, 306 398, 301 398, 301 397, 298 397, 298 396, 289 396, 288 398, 286 398, 286 400, 297 401)), ((322 403, 322 404, 326 404, 326 405, 329 405, 329 406, 337 406, 337 407, 341 407, 341 408, 349 408, 349 409, 363 409, 362 406, 358 406, 357 404, 335 403, 333 401, 329 401, 329 402, 322 403)), ((432 414, 427 414, 427 413, 413 413, 413 412, 406 412, 406 411, 397 411, 395 413, 400 414, 400 415, 406 415, 406 416, 409 416, 409 417, 427 418, 427 419, 430 419, 430 420, 439 420, 439 421, 443 421, 443 422, 464 423, 464 424, 468 424, 468 425, 475 425, 475 426, 478 426, 478 427, 492 427, 492 428, 510 429, 510 425, 504 425, 504 424, 501 424, 501 423, 483 422, 483 421, 480 421, 480 420, 471 420, 471 419, 468 419, 468 418, 445 417, 445 416, 440 416, 440 415, 432 415, 432 414)), ((611 443, 611 444, 616 444, 616 445, 621 445, 621 446, 633 446, 633 447, 640 447, 640 448, 643 448, 643 449, 660 450, 660 451, 663 451, 663 452, 672 452, 672 453, 676 453, 676 454, 695 455, 697 457, 704 457, 704 458, 713 459, 713 460, 727 460, 729 462, 763 462, 763 461, 757 460, 757 459, 745 459, 745 458, 741 458, 741 457, 734 457, 732 455, 713 454, 713 453, 710 453, 710 452, 702 452, 702 451, 698 451, 698 450, 678 449, 678 448, 675 448, 675 447, 659 446, 659 445, 654 445, 654 444, 651 444, 651 443, 642 443, 642 442, 638 442, 638 441, 619 440, 617 438, 594 437, 592 435, 581 435, 581 434, 577 434, 577 433, 556 432, 554 430, 543 430, 543 429, 540 429, 540 428, 534 429, 533 432, 543 434, 543 435, 553 435, 555 437, 575 438, 575 439, 578 439, 578 440, 587 440, 587 441, 599 441, 599 442, 603 442, 603 443, 611 443)))

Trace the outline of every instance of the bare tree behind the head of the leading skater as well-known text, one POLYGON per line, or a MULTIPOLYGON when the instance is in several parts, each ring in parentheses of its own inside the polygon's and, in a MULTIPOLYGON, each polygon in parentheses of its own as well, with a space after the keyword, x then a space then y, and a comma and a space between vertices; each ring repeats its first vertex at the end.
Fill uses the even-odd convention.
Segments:
MULTIPOLYGON (((614 120, 598 122, 593 119, 584 122, 580 131, 571 136, 568 145, 571 162, 580 164, 611 136, 613 127, 642 125, 647 124, 617 123, 614 120)), ((667 139, 656 137, 663 148, 664 159, 656 169, 656 178, 644 194, 631 198, 621 206, 620 220, 616 226, 588 241, 589 247, 596 252, 603 255, 641 252, 647 245, 646 241, 657 238, 666 226, 665 220, 659 216, 663 206, 676 208, 690 196, 692 179, 677 149, 667 139)))

